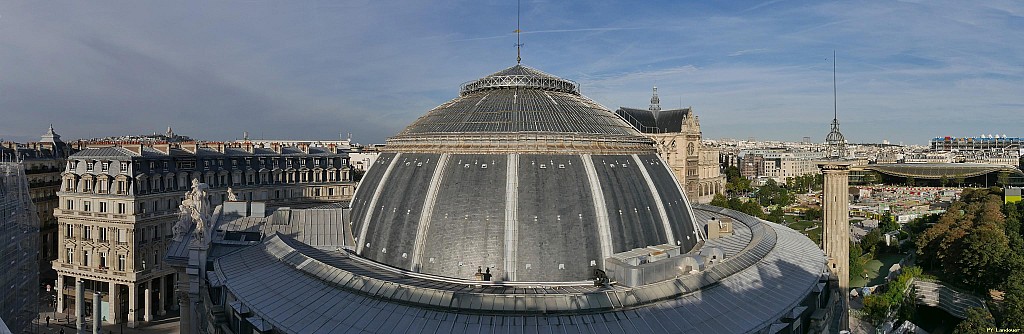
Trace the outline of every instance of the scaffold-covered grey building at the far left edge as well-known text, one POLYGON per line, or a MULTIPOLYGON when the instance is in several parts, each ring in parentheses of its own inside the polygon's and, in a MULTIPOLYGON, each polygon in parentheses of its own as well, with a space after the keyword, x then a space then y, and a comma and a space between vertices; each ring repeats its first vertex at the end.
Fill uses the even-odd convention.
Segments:
POLYGON ((39 217, 20 163, 0 162, 0 326, 20 333, 39 306, 39 217))

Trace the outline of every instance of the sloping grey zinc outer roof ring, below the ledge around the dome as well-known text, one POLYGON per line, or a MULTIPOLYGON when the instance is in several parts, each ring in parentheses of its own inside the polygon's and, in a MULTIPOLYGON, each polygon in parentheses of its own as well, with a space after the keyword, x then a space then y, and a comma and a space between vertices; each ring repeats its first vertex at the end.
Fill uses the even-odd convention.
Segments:
MULTIPOLYGON (((719 214, 734 213, 714 207, 702 209, 719 214)), ((281 237, 226 255, 218 259, 215 266, 219 280, 238 301, 286 333, 744 333, 768 328, 796 307, 801 307, 801 302, 818 285, 824 263, 821 251, 799 233, 768 222, 753 226, 764 228, 764 233, 758 234, 759 239, 771 239, 765 256, 753 262, 734 259, 743 262, 738 264, 739 269, 732 275, 715 278, 717 284, 668 300, 629 308, 615 308, 614 304, 609 304, 611 308, 597 311, 510 314, 501 310, 501 307, 506 307, 502 305, 513 306, 516 303, 517 299, 508 294, 474 299, 479 304, 467 306, 476 311, 445 310, 450 306, 443 305, 456 301, 452 299, 453 294, 443 292, 443 287, 442 290, 424 290, 402 284, 367 281, 360 279, 364 276, 352 275, 350 270, 335 272, 332 269, 336 267, 334 263, 325 265, 316 264, 315 260, 304 260, 310 257, 302 254, 312 252, 302 251, 301 243, 289 242, 281 237), (289 245, 299 248, 289 248, 289 245), (361 288, 353 290, 354 283, 360 284, 361 288), (389 301, 396 297, 407 298, 401 296, 409 294, 422 294, 419 300, 436 303, 437 306, 422 307, 389 301)), ((719 265, 727 265, 730 261, 733 260, 719 265)), ((339 259, 336 262, 346 261, 339 259)), ((350 269, 358 267, 349 266, 350 269)), ((375 276, 369 272, 366 275, 375 276)), ((378 278, 384 278, 381 275, 376 274, 378 278)), ((712 278, 701 280, 708 279, 712 278)), ((615 304, 618 304, 629 298, 644 298, 649 293, 644 291, 636 290, 633 294, 614 292, 612 295, 617 296, 615 304)), ((570 306, 572 300, 578 300, 569 295, 555 293, 546 299, 523 300, 549 302, 547 306, 537 305, 541 307, 538 309, 559 308, 563 307, 559 306, 560 302, 567 302, 565 306, 570 306)))

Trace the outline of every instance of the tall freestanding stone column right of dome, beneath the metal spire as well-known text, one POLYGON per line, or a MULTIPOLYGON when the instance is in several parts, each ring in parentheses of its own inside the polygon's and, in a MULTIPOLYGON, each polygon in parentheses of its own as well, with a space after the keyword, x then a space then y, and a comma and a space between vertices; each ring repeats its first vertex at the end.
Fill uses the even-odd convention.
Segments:
POLYGON ((828 269, 839 279, 843 311, 840 330, 850 328, 850 164, 828 162, 818 165, 824 174, 821 207, 821 247, 828 269))

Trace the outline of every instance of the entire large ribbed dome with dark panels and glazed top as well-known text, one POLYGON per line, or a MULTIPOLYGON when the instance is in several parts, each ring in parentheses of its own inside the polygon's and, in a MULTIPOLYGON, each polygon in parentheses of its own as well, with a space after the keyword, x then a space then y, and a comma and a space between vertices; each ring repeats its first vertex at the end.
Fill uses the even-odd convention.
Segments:
POLYGON ((389 138, 351 217, 362 257, 461 279, 584 281, 614 253, 701 240, 653 141, 519 65, 389 138))

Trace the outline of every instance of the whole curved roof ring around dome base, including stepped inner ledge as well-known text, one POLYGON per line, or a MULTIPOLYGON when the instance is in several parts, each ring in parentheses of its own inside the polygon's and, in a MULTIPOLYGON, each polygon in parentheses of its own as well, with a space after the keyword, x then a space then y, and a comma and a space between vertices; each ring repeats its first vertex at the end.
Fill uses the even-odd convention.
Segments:
POLYGON ((224 255, 211 281, 227 302, 282 332, 744 333, 807 310, 824 255, 787 227, 717 207, 736 234, 709 241, 726 259, 698 274, 635 288, 458 282, 306 246, 284 235, 224 255), (741 225, 741 226, 740 226, 741 225))

